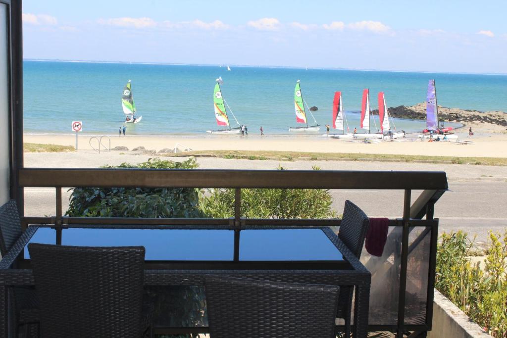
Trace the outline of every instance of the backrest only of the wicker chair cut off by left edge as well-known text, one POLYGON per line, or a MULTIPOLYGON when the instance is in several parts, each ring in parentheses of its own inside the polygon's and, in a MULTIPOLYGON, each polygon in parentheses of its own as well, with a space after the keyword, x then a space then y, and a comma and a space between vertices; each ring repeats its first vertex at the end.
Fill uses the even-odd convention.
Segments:
POLYGON ((0 207, 0 253, 2 257, 21 236, 21 221, 15 200, 10 200, 0 207))

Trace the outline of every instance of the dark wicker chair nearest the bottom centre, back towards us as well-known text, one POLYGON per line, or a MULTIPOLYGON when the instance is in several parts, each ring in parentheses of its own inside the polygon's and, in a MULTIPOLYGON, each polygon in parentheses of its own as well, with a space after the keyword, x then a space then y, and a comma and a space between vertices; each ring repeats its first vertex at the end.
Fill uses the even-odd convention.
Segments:
POLYGON ((208 275, 211 338, 332 338, 338 286, 208 275))

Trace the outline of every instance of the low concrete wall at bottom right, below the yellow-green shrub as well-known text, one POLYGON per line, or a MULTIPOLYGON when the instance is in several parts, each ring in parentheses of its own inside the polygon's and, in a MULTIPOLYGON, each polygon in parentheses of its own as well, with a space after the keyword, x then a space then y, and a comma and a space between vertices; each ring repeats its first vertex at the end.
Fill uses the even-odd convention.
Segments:
POLYGON ((428 338, 491 338, 463 311, 435 290, 433 298, 433 329, 428 338))

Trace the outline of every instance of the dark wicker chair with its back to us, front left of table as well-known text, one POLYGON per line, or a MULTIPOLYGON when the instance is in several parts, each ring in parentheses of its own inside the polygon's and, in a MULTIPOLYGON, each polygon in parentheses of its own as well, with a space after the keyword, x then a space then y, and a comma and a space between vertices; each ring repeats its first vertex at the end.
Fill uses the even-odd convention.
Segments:
POLYGON ((153 335, 143 312, 144 247, 28 244, 41 309, 41 336, 153 335))

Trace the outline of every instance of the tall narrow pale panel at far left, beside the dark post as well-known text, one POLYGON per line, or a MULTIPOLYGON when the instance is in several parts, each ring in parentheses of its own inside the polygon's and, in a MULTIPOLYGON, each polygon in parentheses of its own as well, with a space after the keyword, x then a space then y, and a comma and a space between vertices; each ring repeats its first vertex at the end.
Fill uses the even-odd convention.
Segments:
POLYGON ((0 205, 9 200, 9 64, 7 6, 0 4, 0 205))

